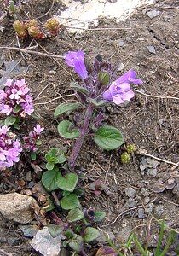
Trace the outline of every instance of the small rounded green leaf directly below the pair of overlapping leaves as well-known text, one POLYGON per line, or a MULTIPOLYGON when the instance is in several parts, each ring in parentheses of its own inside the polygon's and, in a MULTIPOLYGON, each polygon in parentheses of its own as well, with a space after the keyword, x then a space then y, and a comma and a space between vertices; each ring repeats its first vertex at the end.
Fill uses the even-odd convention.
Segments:
POLYGON ((61 208, 64 210, 71 210, 73 208, 77 208, 79 206, 78 196, 75 194, 70 194, 67 196, 64 196, 61 199, 61 208))

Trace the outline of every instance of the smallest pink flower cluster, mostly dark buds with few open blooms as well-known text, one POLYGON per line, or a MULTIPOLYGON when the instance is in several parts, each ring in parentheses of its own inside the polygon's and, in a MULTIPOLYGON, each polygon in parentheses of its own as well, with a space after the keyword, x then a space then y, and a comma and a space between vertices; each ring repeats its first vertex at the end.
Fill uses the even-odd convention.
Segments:
POLYGON ((34 131, 31 131, 29 133, 28 137, 27 136, 23 137, 24 143, 22 145, 22 148, 27 152, 30 152, 30 151, 37 152, 38 150, 37 144, 38 144, 39 136, 41 131, 44 130, 44 128, 41 128, 40 125, 37 125, 36 127, 33 128, 33 130, 34 131))

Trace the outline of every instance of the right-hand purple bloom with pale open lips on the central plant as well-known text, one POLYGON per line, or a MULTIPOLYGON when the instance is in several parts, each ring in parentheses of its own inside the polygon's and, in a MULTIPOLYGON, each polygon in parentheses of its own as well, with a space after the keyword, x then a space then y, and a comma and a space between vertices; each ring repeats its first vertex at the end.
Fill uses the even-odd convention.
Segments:
POLYGON ((130 101, 134 96, 134 92, 130 90, 130 83, 142 84, 140 79, 136 79, 136 72, 132 69, 109 86, 108 90, 102 95, 103 99, 113 101, 117 105, 124 101, 130 101))

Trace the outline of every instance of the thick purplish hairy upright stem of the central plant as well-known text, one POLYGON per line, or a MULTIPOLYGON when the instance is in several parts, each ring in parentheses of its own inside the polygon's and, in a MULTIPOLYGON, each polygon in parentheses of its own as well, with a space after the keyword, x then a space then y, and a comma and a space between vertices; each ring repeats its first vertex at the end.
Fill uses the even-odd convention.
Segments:
POLYGON ((68 160, 68 166, 69 166, 70 170, 74 169, 75 162, 78 158, 78 154, 79 154, 79 152, 82 148, 82 145, 84 143, 84 137, 88 134, 88 128, 90 125, 90 119, 91 119, 93 110, 94 110, 94 108, 91 105, 89 105, 89 107, 86 109, 81 135, 76 140, 76 143, 74 144, 74 147, 72 148, 72 154, 70 155, 70 158, 68 160))

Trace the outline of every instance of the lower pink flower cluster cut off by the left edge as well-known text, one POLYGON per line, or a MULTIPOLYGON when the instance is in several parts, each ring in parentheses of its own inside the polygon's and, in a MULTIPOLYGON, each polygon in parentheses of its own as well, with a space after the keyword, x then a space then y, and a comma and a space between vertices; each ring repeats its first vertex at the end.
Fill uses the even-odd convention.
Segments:
POLYGON ((22 151, 20 141, 9 129, 6 125, 0 126, 0 171, 18 162, 22 151))

